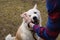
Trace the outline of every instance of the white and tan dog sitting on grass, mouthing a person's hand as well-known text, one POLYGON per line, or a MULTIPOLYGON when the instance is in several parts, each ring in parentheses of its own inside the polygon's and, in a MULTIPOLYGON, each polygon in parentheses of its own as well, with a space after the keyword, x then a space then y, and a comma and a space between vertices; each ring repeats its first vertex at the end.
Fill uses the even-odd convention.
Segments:
MULTIPOLYGON (((32 9, 28 10, 27 15, 31 18, 31 21, 34 24, 40 24, 41 26, 41 15, 40 11, 37 9, 37 5, 35 5, 32 9)), ((32 32, 30 31, 28 24, 23 19, 21 26, 18 28, 15 37, 12 37, 10 34, 5 38, 5 40, 35 40, 33 38, 32 32)))

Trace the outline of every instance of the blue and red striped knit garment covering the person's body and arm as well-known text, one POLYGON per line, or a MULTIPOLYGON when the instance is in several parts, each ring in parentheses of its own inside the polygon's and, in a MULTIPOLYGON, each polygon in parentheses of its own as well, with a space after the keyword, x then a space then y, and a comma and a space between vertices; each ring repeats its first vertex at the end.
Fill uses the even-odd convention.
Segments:
POLYGON ((56 40, 60 32, 60 0, 46 0, 48 21, 46 27, 34 25, 33 30, 45 40, 56 40))

